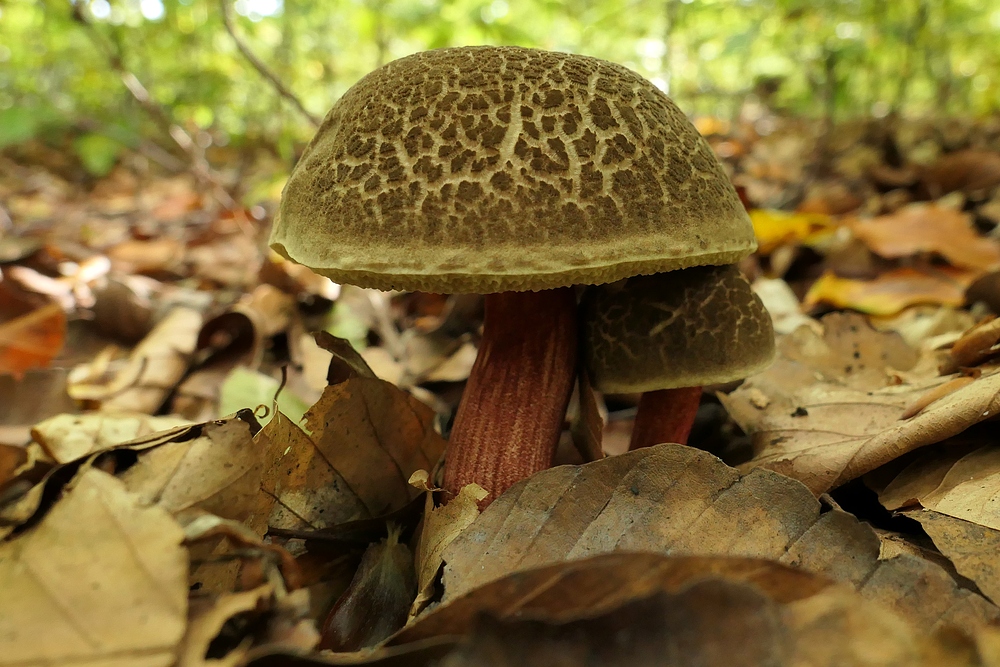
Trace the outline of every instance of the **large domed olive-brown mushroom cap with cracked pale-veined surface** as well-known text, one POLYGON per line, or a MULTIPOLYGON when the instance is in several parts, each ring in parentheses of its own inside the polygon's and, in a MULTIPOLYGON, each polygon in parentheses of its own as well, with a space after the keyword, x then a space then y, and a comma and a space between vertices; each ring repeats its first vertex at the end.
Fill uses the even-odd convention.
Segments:
POLYGON ((711 148, 650 82, 465 47, 391 62, 334 105, 271 247, 338 282, 488 293, 731 263, 755 242, 711 148))

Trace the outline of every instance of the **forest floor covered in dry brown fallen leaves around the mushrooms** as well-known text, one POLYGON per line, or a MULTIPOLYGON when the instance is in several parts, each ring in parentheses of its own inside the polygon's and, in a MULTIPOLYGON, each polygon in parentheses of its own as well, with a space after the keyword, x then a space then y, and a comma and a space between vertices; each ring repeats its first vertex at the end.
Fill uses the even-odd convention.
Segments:
POLYGON ((0 155, 0 667, 1000 666, 1000 118, 697 125, 776 361, 690 446, 578 388, 481 514, 481 297, 283 260, 274 187, 0 155))

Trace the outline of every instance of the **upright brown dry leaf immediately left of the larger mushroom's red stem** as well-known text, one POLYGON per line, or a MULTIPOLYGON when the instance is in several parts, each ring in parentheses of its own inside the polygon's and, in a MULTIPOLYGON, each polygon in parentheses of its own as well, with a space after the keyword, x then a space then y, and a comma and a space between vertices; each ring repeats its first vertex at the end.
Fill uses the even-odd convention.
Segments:
POLYGON ((446 444, 434 430, 430 408, 372 378, 327 387, 304 419, 316 446, 371 516, 400 509, 419 495, 410 475, 432 470, 446 444))

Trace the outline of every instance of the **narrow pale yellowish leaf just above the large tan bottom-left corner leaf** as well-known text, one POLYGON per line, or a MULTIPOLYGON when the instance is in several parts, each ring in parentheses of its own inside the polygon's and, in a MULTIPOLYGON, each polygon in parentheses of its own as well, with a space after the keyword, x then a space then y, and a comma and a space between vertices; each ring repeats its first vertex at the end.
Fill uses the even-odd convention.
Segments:
POLYGON ((58 463, 110 449, 129 440, 189 424, 174 416, 88 412, 56 415, 35 424, 31 437, 58 463))

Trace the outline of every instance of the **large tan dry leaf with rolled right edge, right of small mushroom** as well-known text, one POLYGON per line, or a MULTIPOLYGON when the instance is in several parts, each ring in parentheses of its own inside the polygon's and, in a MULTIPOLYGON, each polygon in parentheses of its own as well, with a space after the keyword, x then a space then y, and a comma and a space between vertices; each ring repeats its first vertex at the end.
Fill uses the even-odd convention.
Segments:
POLYGON ((932 369, 904 373, 910 382, 889 384, 890 373, 899 375, 897 370, 912 364, 912 351, 907 361, 899 351, 901 341, 890 344, 892 336, 873 334, 859 316, 851 318, 837 325, 842 332, 837 346, 831 344, 830 332, 820 337, 798 329, 781 341, 774 365, 732 394, 719 396, 751 436, 755 455, 744 468, 770 468, 819 494, 1000 410, 1000 374, 984 373, 900 421, 909 406, 948 378, 937 377, 932 369))

